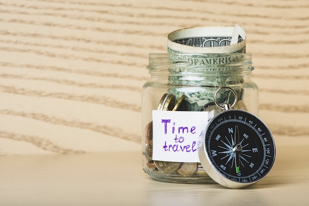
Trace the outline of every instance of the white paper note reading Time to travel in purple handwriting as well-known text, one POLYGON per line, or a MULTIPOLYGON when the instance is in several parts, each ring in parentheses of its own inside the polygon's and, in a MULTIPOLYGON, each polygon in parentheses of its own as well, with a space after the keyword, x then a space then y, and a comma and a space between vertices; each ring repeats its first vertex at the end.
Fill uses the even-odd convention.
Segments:
POLYGON ((153 160, 199 162, 199 136, 207 120, 205 111, 153 110, 153 160))

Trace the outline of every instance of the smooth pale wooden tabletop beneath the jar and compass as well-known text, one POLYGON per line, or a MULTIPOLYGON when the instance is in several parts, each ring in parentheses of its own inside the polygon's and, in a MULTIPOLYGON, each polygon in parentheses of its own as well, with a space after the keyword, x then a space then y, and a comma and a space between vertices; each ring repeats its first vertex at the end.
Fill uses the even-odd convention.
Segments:
POLYGON ((308 206, 308 150, 280 147, 247 189, 153 180, 136 151, 0 156, 0 206, 308 206))

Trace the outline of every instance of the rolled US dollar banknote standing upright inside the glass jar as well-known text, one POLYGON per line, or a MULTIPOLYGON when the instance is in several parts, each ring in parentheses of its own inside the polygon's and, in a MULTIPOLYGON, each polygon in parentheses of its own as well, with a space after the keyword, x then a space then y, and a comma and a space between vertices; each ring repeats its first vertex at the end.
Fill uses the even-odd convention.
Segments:
MULTIPOLYGON (((177 74, 203 70, 208 73, 208 76, 203 82, 207 87, 200 88, 198 91, 194 87, 171 88, 168 93, 175 95, 176 98, 185 95, 189 105, 188 110, 198 111, 203 105, 214 101, 214 93, 218 86, 243 82, 242 78, 231 77, 228 70, 234 69, 229 67, 230 64, 244 61, 239 53, 245 53, 245 50, 246 33, 238 24, 224 27, 193 27, 170 33, 168 35, 169 61, 189 64, 185 67, 171 67, 170 72, 177 74)), ((197 79, 196 76, 189 75, 183 78, 183 76, 171 75, 169 83, 174 85, 200 84, 200 81, 195 81, 195 79, 197 79)), ((242 99, 240 91, 236 93, 239 99, 242 99)), ((229 94, 223 95, 224 102, 229 102, 228 97, 229 94)))

